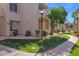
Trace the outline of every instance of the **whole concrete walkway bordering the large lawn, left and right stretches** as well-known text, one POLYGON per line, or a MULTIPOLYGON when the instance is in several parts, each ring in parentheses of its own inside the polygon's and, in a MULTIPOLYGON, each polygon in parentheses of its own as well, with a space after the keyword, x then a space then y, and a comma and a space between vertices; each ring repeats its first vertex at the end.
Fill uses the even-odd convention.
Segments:
MULTIPOLYGON (((70 36, 70 39, 53 50, 49 50, 45 52, 46 56, 66 56, 70 53, 74 43, 78 40, 75 36, 70 36)), ((18 51, 3 45, 0 45, 0 55, 3 56, 34 56, 35 53, 25 53, 22 51, 18 51)), ((37 54, 37 56, 41 56, 42 53, 37 54)))

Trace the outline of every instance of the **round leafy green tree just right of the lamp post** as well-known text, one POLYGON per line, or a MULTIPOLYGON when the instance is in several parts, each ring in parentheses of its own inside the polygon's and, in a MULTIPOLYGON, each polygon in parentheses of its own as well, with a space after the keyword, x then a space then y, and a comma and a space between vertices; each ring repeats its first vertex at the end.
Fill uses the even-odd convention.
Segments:
POLYGON ((51 9, 48 18, 51 21, 52 34, 56 24, 63 24, 66 20, 67 12, 63 7, 55 7, 51 9))

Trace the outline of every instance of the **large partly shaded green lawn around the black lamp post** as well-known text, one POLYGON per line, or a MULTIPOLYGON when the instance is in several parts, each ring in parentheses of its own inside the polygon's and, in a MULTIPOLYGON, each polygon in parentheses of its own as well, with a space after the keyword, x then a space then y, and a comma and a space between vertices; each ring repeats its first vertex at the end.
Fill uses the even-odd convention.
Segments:
MULTIPOLYGON (((43 41, 44 43, 44 51, 50 50, 55 48, 56 46, 60 45, 61 43, 67 41, 69 39, 68 36, 65 36, 64 34, 59 34, 54 37, 51 37, 50 39, 45 39, 43 41)), ((42 49, 41 47, 41 41, 40 39, 7 39, 7 40, 2 40, 0 41, 0 44, 15 48, 17 50, 21 50, 24 52, 31 52, 31 53, 36 53, 36 52, 41 52, 42 49)))

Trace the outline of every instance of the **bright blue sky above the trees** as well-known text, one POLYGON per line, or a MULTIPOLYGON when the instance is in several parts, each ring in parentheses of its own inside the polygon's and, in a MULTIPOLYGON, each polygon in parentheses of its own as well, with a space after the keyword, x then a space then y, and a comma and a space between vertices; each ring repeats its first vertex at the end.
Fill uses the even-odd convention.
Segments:
POLYGON ((68 12, 67 20, 70 23, 73 23, 72 13, 75 9, 79 8, 79 3, 47 3, 49 9, 53 7, 64 7, 64 9, 68 12))

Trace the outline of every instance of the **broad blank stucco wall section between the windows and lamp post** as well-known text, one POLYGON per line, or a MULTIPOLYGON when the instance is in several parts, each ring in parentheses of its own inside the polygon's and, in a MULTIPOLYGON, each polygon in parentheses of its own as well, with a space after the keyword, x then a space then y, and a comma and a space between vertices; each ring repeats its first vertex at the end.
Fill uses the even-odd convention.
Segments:
POLYGON ((38 4, 20 4, 20 17, 21 33, 25 35, 25 32, 30 30, 32 35, 35 35, 35 30, 38 29, 39 20, 38 4))

